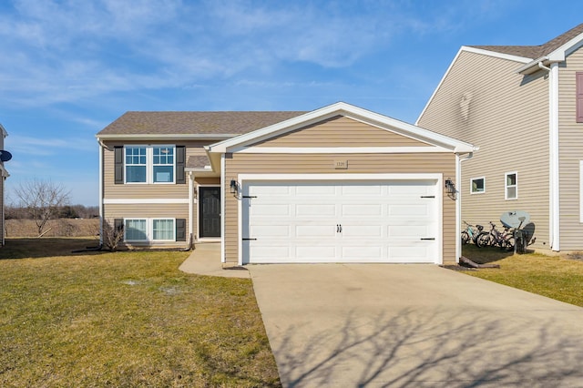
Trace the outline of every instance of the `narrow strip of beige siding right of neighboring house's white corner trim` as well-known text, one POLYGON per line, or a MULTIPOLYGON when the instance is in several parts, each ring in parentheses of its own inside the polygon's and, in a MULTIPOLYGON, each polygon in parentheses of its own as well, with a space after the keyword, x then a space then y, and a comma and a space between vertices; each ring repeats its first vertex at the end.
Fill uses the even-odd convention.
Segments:
POLYGON ((579 161, 583 160, 583 123, 576 119, 575 73, 583 71, 583 49, 567 57, 567 66, 558 69, 560 249, 583 249, 580 220, 579 161))

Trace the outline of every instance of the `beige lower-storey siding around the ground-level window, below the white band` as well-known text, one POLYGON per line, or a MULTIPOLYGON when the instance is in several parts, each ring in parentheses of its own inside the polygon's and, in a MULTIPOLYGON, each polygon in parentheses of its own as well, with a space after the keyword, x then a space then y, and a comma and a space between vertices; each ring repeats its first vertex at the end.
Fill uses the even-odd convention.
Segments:
MULTIPOLYGON (((188 204, 156 204, 145 206, 144 204, 109 204, 104 209, 104 219, 110 225, 114 225, 115 219, 186 219, 187 239, 186 241, 156 241, 156 247, 186 247, 189 243, 189 205, 188 204)), ((132 248, 148 246, 148 243, 122 243, 120 247, 132 248)))

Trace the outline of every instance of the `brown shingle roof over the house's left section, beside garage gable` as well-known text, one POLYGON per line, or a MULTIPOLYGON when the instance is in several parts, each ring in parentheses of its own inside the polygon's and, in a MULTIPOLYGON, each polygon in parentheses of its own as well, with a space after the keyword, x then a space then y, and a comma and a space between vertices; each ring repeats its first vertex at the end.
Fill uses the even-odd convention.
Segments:
POLYGON ((100 135, 243 134, 306 112, 126 112, 100 135))

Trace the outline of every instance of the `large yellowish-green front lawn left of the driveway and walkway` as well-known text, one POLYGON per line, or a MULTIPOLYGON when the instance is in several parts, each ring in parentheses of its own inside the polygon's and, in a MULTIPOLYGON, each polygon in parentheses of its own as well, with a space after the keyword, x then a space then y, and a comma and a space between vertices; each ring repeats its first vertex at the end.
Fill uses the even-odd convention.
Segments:
POLYGON ((0 249, 2 386, 280 386, 250 280, 178 270, 189 252, 0 249))

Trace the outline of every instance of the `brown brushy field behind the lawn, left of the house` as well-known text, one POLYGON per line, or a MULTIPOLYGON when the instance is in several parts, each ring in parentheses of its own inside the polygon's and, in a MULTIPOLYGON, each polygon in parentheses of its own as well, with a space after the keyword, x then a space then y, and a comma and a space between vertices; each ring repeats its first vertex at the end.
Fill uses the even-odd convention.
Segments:
MULTIPOLYGON (((43 237, 96 237, 99 219, 59 219, 48 221, 43 237)), ((38 229, 34 220, 6 220, 5 237, 37 237, 38 229)))

